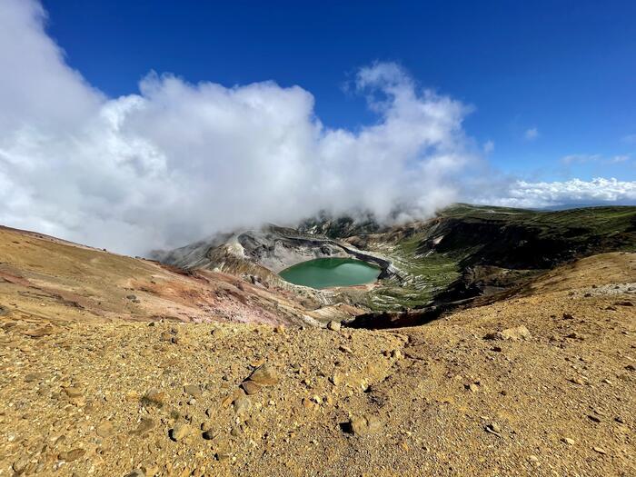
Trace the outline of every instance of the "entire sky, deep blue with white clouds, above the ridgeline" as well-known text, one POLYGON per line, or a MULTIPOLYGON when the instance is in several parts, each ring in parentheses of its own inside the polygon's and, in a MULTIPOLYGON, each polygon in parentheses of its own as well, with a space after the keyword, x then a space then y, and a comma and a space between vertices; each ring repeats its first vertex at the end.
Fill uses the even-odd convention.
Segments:
POLYGON ((636 4, 313 5, 0 0, 0 224, 140 254, 636 204, 636 4))

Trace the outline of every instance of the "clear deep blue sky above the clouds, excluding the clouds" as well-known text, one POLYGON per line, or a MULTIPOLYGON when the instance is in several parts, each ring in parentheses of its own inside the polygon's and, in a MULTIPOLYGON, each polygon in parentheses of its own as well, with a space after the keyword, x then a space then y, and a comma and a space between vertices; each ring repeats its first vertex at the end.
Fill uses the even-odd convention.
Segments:
POLYGON ((311 92, 324 124, 354 130, 376 119, 343 85, 392 61, 474 107, 466 134, 492 142, 503 173, 636 179, 636 3, 344 4, 44 2, 67 63, 111 96, 136 92, 150 70, 225 86, 273 80, 311 92))

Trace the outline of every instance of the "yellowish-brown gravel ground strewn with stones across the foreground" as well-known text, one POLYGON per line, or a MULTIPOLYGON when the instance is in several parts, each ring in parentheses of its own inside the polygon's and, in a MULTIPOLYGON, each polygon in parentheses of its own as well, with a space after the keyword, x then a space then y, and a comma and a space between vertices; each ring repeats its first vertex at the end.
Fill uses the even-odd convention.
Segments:
POLYGON ((385 331, 63 320, 14 278, 0 475, 634 475, 635 278, 606 253, 385 331))

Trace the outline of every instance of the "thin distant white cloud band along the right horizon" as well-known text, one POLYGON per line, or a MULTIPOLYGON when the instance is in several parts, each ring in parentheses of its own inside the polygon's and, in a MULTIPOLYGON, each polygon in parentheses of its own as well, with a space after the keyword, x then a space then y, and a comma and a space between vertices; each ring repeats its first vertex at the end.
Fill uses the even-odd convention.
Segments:
POLYGON ((507 207, 543 208, 561 205, 636 204, 636 182, 595 178, 562 182, 526 182, 510 180, 474 197, 478 204, 507 207))

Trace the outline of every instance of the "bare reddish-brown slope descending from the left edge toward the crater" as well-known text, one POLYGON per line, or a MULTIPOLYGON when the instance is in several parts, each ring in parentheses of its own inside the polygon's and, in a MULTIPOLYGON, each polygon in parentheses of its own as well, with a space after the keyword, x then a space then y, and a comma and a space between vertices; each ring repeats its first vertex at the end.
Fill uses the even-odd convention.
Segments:
POLYGON ((326 294, 245 273, 186 273, 0 227, 0 310, 24 320, 298 324, 360 313, 326 303, 326 294))

